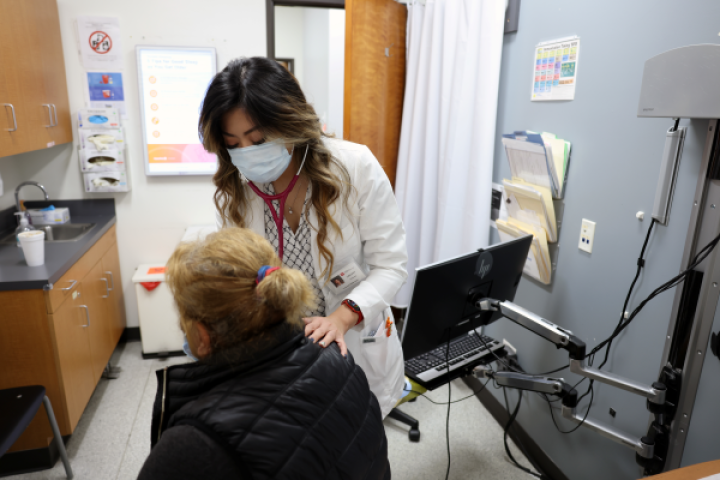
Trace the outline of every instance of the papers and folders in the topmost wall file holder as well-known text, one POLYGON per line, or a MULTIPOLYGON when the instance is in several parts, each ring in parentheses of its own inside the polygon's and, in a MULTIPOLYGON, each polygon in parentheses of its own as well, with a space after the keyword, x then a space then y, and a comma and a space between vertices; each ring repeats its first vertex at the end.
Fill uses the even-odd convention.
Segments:
POLYGON ((549 188, 553 198, 562 198, 570 142, 530 131, 504 134, 502 142, 513 177, 549 188))

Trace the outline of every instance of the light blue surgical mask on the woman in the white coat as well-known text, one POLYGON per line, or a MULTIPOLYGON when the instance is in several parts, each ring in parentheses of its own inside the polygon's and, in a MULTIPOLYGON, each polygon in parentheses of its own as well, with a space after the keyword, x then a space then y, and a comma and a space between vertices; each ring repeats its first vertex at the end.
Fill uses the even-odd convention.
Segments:
POLYGON ((274 182, 280 178, 292 159, 285 144, 281 142, 228 149, 228 153, 240 173, 255 183, 274 182))

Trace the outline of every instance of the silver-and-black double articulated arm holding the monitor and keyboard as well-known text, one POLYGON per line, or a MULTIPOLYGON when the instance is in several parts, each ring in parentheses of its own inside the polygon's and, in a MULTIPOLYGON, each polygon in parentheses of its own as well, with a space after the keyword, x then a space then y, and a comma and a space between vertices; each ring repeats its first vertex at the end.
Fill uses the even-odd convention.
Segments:
MULTIPOLYGON (((509 318, 518 325, 554 343, 558 348, 567 350, 570 356, 571 372, 645 397, 647 398, 647 406, 651 412, 662 412, 662 407, 665 404, 665 385, 659 382, 655 382, 652 385, 644 385, 619 375, 585 365, 585 342, 577 338, 569 330, 555 325, 512 302, 500 302, 491 298, 484 298, 475 302, 475 306, 482 311, 500 312, 504 317, 509 318)), ((654 441, 651 438, 634 437, 615 427, 603 425, 590 418, 583 418, 582 415, 579 415, 575 411, 577 407, 577 392, 562 379, 517 372, 493 372, 487 367, 477 367, 474 374, 476 376, 492 378, 499 385, 505 387, 557 395, 562 398, 563 417, 594 430, 617 443, 632 448, 637 454, 638 463, 643 464, 653 459, 654 441)))

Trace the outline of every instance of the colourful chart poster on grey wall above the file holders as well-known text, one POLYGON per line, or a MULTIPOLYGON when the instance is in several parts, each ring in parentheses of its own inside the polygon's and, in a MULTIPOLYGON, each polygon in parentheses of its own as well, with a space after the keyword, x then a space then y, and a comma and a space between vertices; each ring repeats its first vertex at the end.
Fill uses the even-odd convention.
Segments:
POLYGON ((580 37, 539 43, 535 47, 530 99, 574 100, 579 55, 580 37))

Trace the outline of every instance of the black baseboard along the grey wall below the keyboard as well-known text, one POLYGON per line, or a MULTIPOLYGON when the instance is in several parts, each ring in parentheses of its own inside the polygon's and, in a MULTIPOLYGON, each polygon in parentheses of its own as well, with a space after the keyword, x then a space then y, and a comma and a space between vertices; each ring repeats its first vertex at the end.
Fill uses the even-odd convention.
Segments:
MULTIPOLYGON (((475 396, 480 400, 480 403, 490 412, 500 426, 504 427, 510 418, 510 413, 505 410, 505 406, 500 403, 492 393, 482 388, 482 382, 478 379, 464 377, 463 381, 474 392, 478 392, 475 396)), ((525 455, 538 472, 545 474, 552 480, 568 480, 557 464, 540 448, 518 422, 513 422, 509 435, 516 445, 522 445, 525 455)))

